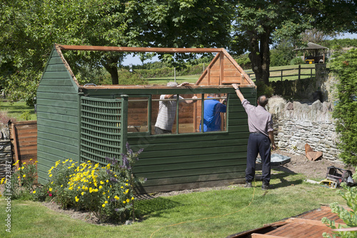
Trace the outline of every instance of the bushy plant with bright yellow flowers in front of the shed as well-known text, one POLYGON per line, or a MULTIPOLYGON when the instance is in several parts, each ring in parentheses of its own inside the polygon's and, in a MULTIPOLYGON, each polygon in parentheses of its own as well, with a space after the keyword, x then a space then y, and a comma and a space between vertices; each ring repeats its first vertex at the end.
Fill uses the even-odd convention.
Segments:
POLYGON ((101 222, 125 222, 134 211, 134 186, 144 182, 136 178, 132 167, 138 160, 126 144, 122 161, 106 158, 109 164, 101 167, 91 161, 57 161, 49 170, 49 182, 33 192, 36 200, 54 200, 62 208, 93 212, 101 222))

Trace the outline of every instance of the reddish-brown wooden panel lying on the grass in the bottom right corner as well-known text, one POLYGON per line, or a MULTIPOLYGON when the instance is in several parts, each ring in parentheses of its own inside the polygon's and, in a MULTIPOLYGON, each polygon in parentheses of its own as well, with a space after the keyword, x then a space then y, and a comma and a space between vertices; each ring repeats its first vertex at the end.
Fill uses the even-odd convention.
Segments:
POLYGON ((320 238, 322 237, 323 232, 332 234, 331 228, 321 222, 323 217, 334 220, 336 222, 336 227, 338 223, 345 224, 337 214, 331 212, 330 207, 323 206, 319 209, 303 213, 297 217, 291 217, 280 222, 266 224, 258 229, 233 234, 227 238, 320 238))

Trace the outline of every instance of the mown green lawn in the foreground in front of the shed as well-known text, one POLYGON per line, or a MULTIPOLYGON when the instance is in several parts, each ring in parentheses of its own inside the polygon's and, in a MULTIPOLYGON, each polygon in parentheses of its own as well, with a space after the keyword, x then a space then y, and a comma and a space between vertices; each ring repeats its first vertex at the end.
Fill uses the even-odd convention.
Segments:
MULTIPOLYGON (((303 175, 273 171, 273 190, 236 185, 231 190, 193 192, 141 200, 136 207, 143 221, 101 226, 72 219, 40 202, 11 201, 11 234, 1 225, 0 237, 227 237, 230 234, 293 217, 321 204, 346 202, 331 190, 303 182, 303 175)), ((321 178, 322 179, 322 178, 321 178)), ((253 185, 255 186, 254 182, 253 185)), ((6 202, 0 200, 4 224, 6 202)), ((0 222, 0 224, 1 224, 0 222)))

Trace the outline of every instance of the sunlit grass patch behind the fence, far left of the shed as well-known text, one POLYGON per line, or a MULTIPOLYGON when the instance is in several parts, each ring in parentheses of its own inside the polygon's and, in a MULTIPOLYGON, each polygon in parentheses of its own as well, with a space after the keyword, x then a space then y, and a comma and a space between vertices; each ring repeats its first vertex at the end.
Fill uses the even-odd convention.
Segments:
POLYGON ((29 112, 30 113, 30 120, 36 120, 37 115, 34 111, 34 108, 31 108, 26 105, 25 102, 15 102, 9 103, 4 99, 0 100, 0 111, 5 111, 10 118, 16 118, 16 121, 24 120, 21 115, 23 113, 29 112))

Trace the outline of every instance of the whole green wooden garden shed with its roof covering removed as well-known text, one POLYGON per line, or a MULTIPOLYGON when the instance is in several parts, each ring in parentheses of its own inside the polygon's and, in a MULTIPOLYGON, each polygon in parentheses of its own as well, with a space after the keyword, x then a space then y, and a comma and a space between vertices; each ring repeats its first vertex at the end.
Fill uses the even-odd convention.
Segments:
MULTIPOLYGON (((247 116, 231 83, 256 104, 256 86, 223 48, 131 48, 54 45, 37 90, 37 158, 39 182, 57 160, 120 157, 126 143, 144 148, 134 173, 145 177, 139 193, 214 187, 243 182, 248 140, 247 116), (216 53, 198 81, 189 87, 79 85, 65 51, 216 53), (209 93, 226 98, 221 130, 200 130, 209 93), (160 95, 197 96, 178 105, 171 134, 155 135, 160 95), (203 110, 201 110, 203 109, 203 110)), ((177 97, 179 98, 179 97, 177 97)))

